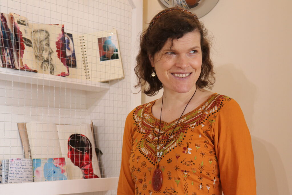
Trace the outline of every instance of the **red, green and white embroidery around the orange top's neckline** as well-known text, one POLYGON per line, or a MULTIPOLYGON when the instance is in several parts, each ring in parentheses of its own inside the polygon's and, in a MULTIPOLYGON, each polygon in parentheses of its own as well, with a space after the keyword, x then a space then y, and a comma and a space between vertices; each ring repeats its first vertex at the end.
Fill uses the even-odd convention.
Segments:
MULTIPOLYGON (((173 131, 172 136, 169 138, 169 142, 166 146, 164 146, 164 143, 168 139, 168 136, 171 134, 171 131, 173 130, 173 125, 175 125, 178 119, 170 123, 161 122, 161 138, 159 139, 159 148, 166 148, 164 153, 162 154, 161 159, 184 139, 185 133, 187 133, 188 128, 198 125, 199 122, 203 121, 206 118, 206 115, 208 115, 209 113, 218 112, 220 107, 222 107, 223 99, 230 98, 214 93, 209 96, 208 99, 206 99, 206 101, 204 101, 195 110, 183 115, 181 121, 178 123, 177 127, 173 131)), ((157 150, 159 120, 153 117, 150 110, 153 104, 154 101, 138 106, 133 112, 133 119, 135 120, 134 131, 143 135, 143 138, 140 141, 137 140, 137 142, 135 143, 135 150, 138 149, 138 151, 143 156, 145 156, 148 161, 150 161, 152 164, 155 164, 156 154, 160 150, 157 150)))

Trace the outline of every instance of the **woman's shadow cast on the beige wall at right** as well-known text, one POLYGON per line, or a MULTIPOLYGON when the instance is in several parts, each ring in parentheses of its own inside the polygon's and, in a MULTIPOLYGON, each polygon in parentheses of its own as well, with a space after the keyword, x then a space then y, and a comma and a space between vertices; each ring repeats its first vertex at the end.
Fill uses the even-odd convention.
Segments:
MULTIPOLYGON (((233 64, 216 67, 215 73, 216 82, 213 91, 230 96, 239 103, 252 134, 253 121, 257 121, 253 120, 254 105, 258 96, 256 85, 233 64)), ((284 165, 275 146, 254 136, 251 136, 251 141, 256 168, 257 194, 290 194, 284 165)))

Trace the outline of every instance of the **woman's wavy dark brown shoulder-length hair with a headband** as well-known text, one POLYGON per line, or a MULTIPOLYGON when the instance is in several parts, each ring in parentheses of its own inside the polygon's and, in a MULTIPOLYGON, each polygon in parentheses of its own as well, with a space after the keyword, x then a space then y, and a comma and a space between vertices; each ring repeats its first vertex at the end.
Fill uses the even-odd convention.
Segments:
POLYGON ((207 31, 197 17, 183 9, 168 8, 159 12, 151 20, 150 25, 140 37, 140 52, 136 58, 135 74, 138 84, 135 87, 145 86, 143 92, 153 96, 163 87, 158 77, 152 77, 152 66, 148 56, 159 52, 170 38, 179 39, 188 32, 198 30, 201 34, 202 64, 201 74, 196 82, 199 88, 211 89, 215 82, 213 63, 210 59, 210 44, 207 31))

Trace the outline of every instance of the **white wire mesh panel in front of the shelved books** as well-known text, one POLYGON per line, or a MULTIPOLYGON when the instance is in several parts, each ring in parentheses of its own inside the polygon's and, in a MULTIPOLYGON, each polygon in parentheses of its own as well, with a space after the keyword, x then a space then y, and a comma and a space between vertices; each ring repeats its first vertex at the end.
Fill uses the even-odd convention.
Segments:
POLYGON ((11 31, 1 28, 0 160, 32 159, 43 178, 54 167, 59 175, 44 180, 118 177, 131 93, 128 0, 1 0, 0 10, 1 24, 13 16, 11 31))

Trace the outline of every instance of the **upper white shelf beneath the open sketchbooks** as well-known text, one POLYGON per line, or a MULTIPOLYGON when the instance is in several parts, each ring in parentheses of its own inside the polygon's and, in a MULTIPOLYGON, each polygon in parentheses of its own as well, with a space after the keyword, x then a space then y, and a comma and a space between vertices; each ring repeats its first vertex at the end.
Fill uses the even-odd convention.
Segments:
POLYGON ((0 68, 0 80, 54 86, 61 88, 80 89, 92 92, 101 92, 109 89, 108 83, 91 82, 88 80, 73 79, 41 73, 32 73, 11 68, 0 68))

